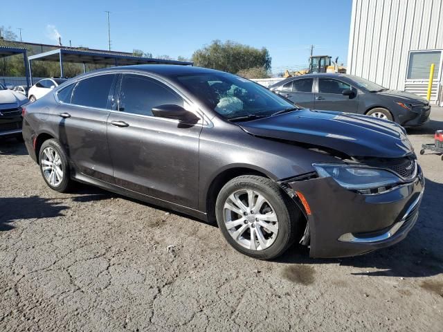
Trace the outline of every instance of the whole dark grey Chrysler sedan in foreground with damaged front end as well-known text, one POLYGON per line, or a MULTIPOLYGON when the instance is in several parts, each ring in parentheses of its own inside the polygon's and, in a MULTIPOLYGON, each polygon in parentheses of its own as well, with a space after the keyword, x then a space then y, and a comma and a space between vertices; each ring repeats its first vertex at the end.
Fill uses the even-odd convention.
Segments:
POLYGON ((80 181, 215 219, 257 259, 294 242, 313 257, 390 246, 413 228, 424 190, 398 124, 297 109, 192 66, 80 75, 26 107, 23 136, 53 190, 80 181))

